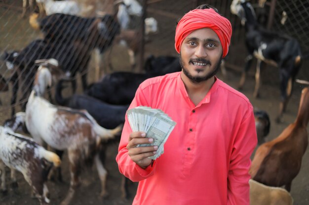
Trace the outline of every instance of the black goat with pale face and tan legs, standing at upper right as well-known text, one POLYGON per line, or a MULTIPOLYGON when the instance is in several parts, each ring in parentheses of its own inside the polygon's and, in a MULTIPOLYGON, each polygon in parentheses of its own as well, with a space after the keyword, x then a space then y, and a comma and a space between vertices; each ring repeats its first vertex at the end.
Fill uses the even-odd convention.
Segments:
POLYGON ((249 2, 245 0, 233 0, 231 12, 239 16, 242 24, 245 25, 245 43, 249 52, 238 88, 241 89, 244 85, 246 73, 251 66, 253 56, 258 60, 255 74, 256 84, 253 93, 254 97, 259 96, 262 63, 266 62, 278 67, 281 99, 276 121, 280 122, 292 94, 295 76, 301 67, 301 47, 298 41, 290 36, 262 29, 257 23, 255 12, 249 2))

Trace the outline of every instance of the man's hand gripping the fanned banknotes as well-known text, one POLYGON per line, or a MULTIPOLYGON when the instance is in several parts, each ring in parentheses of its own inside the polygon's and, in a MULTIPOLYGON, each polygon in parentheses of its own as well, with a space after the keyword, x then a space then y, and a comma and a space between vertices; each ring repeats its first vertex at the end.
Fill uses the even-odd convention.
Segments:
POLYGON ((146 169, 151 164, 152 159, 148 157, 156 153, 158 146, 136 146, 139 144, 151 144, 153 142, 154 139, 146 138, 145 132, 132 132, 129 136, 129 143, 126 146, 128 154, 132 161, 143 169, 146 169))

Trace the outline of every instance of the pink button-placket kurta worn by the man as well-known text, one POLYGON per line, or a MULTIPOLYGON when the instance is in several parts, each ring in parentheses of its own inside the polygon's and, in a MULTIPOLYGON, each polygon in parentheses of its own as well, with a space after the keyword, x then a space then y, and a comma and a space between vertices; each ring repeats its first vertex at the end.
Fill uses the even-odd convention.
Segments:
POLYGON ((161 109, 177 125, 164 153, 144 170, 127 154, 126 118, 116 161, 120 173, 139 181, 133 205, 249 205, 257 136, 247 97, 216 79, 195 106, 177 72, 142 83, 129 109, 139 105, 161 109))

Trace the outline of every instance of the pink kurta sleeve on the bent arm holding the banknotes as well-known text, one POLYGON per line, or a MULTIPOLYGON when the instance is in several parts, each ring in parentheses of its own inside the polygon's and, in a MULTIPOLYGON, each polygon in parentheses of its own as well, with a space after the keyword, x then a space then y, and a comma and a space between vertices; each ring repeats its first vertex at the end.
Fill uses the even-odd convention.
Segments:
MULTIPOLYGON (((150 106, 147 102, 147 99, 142 89, 139 87, 136 91, 135 97, 129 109, 135 108, 140 105, 150 106)), ((131 160, 130 156, 128 155, 128 150, 126 148, 129 141, 129 135, 131 132, 132 129, 128 122, 127 115, 125 115, 125 122, 121 133, 121 139, 118 147, 118 154, 116 156, 116 162, 118 164, 118 168, 121 174, 128 177, 132 181, 141 181, 143 179, 148 178, 149 176, 154 175, 155 161, 146 169, 143 169, 131 160)))

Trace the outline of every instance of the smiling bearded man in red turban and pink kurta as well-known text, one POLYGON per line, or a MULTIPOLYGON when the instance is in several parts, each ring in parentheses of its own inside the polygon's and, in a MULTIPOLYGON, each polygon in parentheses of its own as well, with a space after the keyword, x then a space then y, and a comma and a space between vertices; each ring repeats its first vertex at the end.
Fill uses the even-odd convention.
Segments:
POLYGON ((215 77, 231 35, 229 20, 212 8, 188 12, 175 35, 182 72, 148 79, 136 91, 129 109, 161 109, 177 124, 164 153, 151 160, 157 146, 136 146, 153 139, 132 132, 126 118, 116 161, 120 173, 139 181, 133 205, 249 205, 252 105, 215 77))

